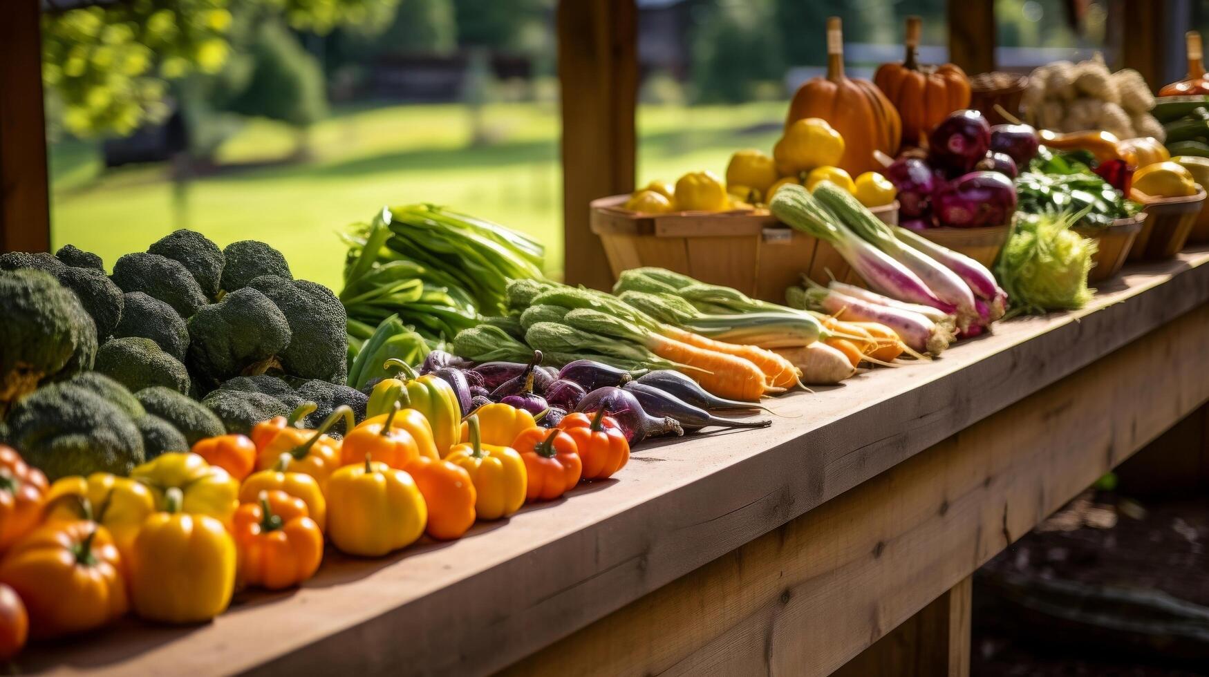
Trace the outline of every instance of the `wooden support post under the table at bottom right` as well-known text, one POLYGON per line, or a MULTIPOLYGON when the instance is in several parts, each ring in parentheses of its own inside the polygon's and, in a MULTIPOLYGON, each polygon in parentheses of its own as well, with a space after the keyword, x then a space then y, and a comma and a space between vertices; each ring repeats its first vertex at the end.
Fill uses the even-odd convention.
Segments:
POLYGON ((833 677, 970 675, 971 578, 961 579, 833 677))

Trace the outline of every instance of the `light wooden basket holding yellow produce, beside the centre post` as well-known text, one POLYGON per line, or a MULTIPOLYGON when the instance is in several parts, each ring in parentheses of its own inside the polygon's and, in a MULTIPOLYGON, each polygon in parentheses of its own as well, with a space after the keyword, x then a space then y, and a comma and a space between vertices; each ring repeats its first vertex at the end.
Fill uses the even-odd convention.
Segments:
MULTIPOLYGON (((832 276, 860 283, 831 245, 786 227, 767 209, 636 214, 621 208, 626 199, 617 195, 591 203, 591 228, 614 278, 630 268, 659 266, 775 302, 785 301, 785 288, 799 284, 802 273, 823 284, 832 276)), ((870 212, 887 224, 898 222, 897 202, 870 212)))

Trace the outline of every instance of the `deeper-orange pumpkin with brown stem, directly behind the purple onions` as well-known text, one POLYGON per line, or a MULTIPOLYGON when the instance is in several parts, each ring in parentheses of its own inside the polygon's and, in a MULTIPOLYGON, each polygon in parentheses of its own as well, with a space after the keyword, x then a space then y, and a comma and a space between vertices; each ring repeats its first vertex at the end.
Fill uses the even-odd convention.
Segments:
POLYGON ((873 82, 898 109, 903 121, 903 145, 922 145, 933 127, 955 110, 970 106, 970 79, 961 66, 922 65, 916 60, 920 19, 907 17, 907 58, 903 63, 881 64, 873 82))

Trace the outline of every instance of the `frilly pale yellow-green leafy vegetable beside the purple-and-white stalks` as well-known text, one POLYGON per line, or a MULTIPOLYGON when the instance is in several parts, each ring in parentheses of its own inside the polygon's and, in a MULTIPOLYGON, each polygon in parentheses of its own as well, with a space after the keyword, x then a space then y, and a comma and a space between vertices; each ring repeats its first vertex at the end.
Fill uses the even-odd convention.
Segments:
POLYGON ((995 265, 1012 314, 1081 308, 1092 299, 1087 273, 1095 242, 1070 230, 1084 214, 1035 214, 1017 219, 995 265))

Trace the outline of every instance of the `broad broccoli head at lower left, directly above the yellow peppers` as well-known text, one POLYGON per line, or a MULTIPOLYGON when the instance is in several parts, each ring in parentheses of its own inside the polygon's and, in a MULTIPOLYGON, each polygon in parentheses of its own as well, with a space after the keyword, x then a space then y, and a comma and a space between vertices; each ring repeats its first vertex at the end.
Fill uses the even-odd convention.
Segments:
POLYGON ((74 380, 22 398, 6 424, 12 446, 52 481, 98 471, 127 475, 144 461, 134 419, 74 380))

